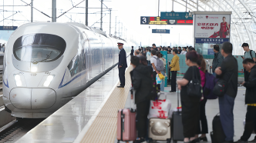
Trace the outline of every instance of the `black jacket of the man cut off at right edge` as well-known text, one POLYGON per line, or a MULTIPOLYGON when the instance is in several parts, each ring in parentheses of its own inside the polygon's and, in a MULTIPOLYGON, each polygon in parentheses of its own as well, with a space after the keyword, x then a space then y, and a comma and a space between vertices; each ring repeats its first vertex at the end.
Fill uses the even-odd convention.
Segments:
POLYGON ((256 65, 251 68, 248 81, 244 82, 246 87, 245 91, 245 104, 256 103, 256 65))

